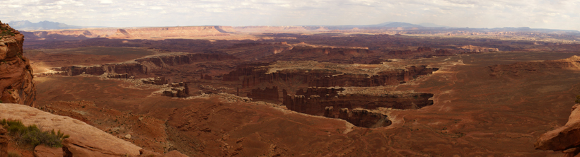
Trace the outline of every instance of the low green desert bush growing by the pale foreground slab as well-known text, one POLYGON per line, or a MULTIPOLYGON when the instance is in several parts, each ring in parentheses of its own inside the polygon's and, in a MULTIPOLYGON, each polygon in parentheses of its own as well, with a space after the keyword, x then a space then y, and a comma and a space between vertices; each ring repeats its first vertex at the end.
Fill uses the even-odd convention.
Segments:
POLYGON ((18 144, 30 144, 31 146, 38 146, 44 144, 51 147, 62 147, 62 140, 69 138, 69 135, 64 133, 42 131, 36 127, 35 124, 25 126, 20 120, 1 120, 0 124, 4 127, 11 136, 15 137, 18 144))

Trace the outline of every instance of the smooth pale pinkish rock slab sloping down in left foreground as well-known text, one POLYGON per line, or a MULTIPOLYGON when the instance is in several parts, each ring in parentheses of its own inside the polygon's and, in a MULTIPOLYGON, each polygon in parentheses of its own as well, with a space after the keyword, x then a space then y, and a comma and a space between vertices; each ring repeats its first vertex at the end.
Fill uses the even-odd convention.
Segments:
POLYGON ((45 130, 70 135, 63 144, 64 156, 139 156, 139 146, 71 117, 52 115, 34 107, 0 103, 0 119, 21 120, 45 130))

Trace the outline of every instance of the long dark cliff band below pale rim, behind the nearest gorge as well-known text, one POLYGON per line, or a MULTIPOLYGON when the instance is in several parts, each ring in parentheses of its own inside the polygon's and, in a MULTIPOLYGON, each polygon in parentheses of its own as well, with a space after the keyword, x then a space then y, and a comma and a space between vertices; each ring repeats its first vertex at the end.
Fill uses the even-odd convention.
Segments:
POLYGON ((395 69, 392 71, 382 71, 375 76, 366 74, 342 74, 338 71, 328 71, 320 69, 292 69, 282 70, 267 74, 267 70, 262 67, 240 66, 236 71, 231 71, 224 75, 224 81, 242 80, 243 88, 257 86, 260 83, 273 81, 296 80, 306 83, 307 86, 334 87, 334 86, 388 86, 410 81, 418 76, 432 74, 438 68, 427 68, 427 66, 409 66, 406 69, 395 69))

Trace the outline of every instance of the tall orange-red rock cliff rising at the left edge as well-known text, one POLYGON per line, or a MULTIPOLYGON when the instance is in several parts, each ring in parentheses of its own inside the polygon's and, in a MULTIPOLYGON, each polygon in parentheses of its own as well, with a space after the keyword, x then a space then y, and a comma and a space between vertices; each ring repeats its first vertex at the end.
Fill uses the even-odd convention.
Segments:
POLYGON ((0 100, 34 106, 33 69, 23 56, 24 35, 0 22, 0 100))

